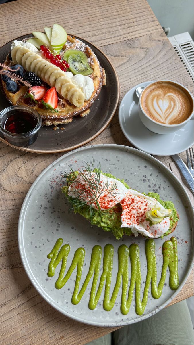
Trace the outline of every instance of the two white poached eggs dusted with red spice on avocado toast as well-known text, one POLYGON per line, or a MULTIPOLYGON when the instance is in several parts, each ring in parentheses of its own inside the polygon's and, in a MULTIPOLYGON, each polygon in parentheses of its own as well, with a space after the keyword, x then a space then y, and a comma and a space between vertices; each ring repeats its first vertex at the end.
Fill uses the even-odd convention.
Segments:
POLYGON ((169 212, 155 198, 126 188, 121 181, 96 172, 81 172, 68 188, 68 195, 84 201, 95 209, 105 210, 120 203, 122 207, 121 228, 130 228, 135 236, 138 233, 158 238, 170 227, 171 210, 169 212), (98 186, 95 189, 95 186, 98 186), (96 204, 94 195, 98 200, 96 204), (152 212, 157 221, 158 215, 164 215, 160 222, 150 225, 147 212, 152 212), (167 216, 165 216, 167 215, 167 216))

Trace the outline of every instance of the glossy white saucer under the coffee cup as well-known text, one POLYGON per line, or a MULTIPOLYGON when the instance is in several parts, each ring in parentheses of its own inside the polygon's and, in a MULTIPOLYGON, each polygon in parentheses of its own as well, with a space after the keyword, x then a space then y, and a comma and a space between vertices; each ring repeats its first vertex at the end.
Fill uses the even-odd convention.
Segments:
POLYGON ((138 113, 138 97, 135 90, 152 81, 136 85, 123 97, 119 106, 119 123, 125 137, 138 149, 155 156, 171 156, 193 145, 193 120, 171 134, 156 134, 147 129, 138 113))

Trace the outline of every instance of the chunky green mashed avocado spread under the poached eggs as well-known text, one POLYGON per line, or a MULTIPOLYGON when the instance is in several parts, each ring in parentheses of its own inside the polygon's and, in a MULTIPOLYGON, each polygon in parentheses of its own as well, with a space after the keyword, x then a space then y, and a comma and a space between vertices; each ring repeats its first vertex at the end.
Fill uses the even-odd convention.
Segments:
MULTIPOLYGON (((76 171, 75 173, 76 173, 76 175, 79 174, 78 171, 76 171)), ((105 176, 114 178, 114 179, 122 182, 126 188, 130 188, 124 182, 124 180, 120 180, 119 178, 116 178, 112 174, 105 174, 104 172, 101 172, 101 173, 105 176)), ((69 200, 70 199, 72 200, 73 198, 68 195, 68 188, 69 188, 69 186, 62 187, 62 193, 64 193, 65 196, 67 196, 67 198, 69 200)), ((145 193, 143 193, 143 194, 145 194, 145 193)), ((172 203, 172 201, 161 200, 160 195, 157 193, 149 192, 148 194, 145 194, 145 195, 150 196, 152 198, 155 198, 156 200, 159 201, 159 203, 161 205, 164 206, 164 208, 172 210, 172 214, 170 216, 169 230, 166 231, 166 233, 164 235, 162 235, 161 238, 163 238, 166 235, 169 235, 171 233, 176 221, 178 220, 177 211, 175 209, 174 204, 172 203)), ((76 207, 76 208, 74 208, 74 213, 75 214, 79 213, 80 215, 82 215, 87 220, 90 220, 90 210, 89 209, 90 209, 90 207, 88 205, 76 207)), ((121 224, 122 224, 121 223, 121 213, 122 213, 122 208, 121 208, 120 204, 116 204, 114 207, 111 207, 111 208, 104 210, 104 211, 102 211, 102 210, 99 211, 97 209, 94 209, 93 217, 92 217, 93 225, 101 227, 104 231, 112 231, 112 233, 116 237, 116 239, 122 238, 124 234, 125 235, 132 235, 133 233, 132 233, 130 228, 121 228, 121 224)))

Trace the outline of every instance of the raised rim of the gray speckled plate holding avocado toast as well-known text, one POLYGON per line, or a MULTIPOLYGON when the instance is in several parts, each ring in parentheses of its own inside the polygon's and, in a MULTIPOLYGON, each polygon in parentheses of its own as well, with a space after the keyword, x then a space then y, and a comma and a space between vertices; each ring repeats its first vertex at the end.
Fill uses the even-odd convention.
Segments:
MULTIPOLYGON (((88 150, 88 149, 92 149, 92 148, 99 148, 99 149, 120 149, 120 150, 125 150, 125 151, 128 151, 129 153, 133 153, 133 154, 136 154, 138 156, 143 156, 143 158, 146 158, 148 160, 150 160, 151 162, 157 164, 157 166, 164 170, 168 176, 170 176, 172 178, 172 180, 176 183, 177 187, 179 187, 179 190, 181 192, 182 195, 184 195, 184 197, 186 198, 187 200, 187 203, 189 205, 188 209, 189 209, 189 213, 190 213, 190 216, 193 215, 193 206, 192 206, 192 203, 191 203, 191 200, 184 188, 184 186, 181 184, 181 182, 178 180, 178 178, 173 174, 173 172, 167 168, 162 162, 160 162, 158 159, 156 159, 155 157, 147 154, 146 152, 144 151, 141 151, 139 149, 136 149, 136 148, 132 148, 132 147, 129 147, 129 146, 126 146, 126 145, 117 145, 117 144, 99 144, 99 145, 91 145, 91 146, 85 146, 85 147, 81 147, 81 148, 78 148, 76 150, 73 150, 71 152, 68 152, 64 155, 62 155, 61 157, 59 157, 58 159, 54 160, 51 164, 49 164, 42 172, 41 174, 35 179, 35 181, 33 182, 33 184, 31 185, 30 189, 28 190, 25 198, 24 198, 24 201, 23 201, 23 204, 22 204, 22 207, 21 207, 21 210, 20 210, 20 215, 19 215, 19 221, 18 221, 18 247, 19 247, 19 253, 20 253, 20 257, 21 257, 21 261, 22 261, 22 265, 24 267, 24 270, 28 276, 28 278, 30 279, 30 282, 32 283, 32 285, 34 286, 34 288, 37 290, 37 292, 44 298, 44 300, 47 301, 47 303, 49 303, 54 309, 56 309, 58 312, 60 312, 61 314, 73 319, 74 321, 78 321, 78 322, 81 322, 81 323, 84 323, 84 324, 88 324, 88 325, 92 325, 92 326, 100 326, 100 327, 119 327, 119 326, 125 326, 125 325, 129 325, 129 324, 133 324, 133 323, 136 323, 136 322, 140 322, 148 317, 150 317, 153 313, 153 311, 151 312, 148 312, 147 314, 141 316, 140 318, 138 319, 132 319, 132 320, 128 320, 128 321, 125 321, 125 322, 118 322, 118 323, 100 323, 100 322, 93 322, 93 321, 85 321, 84 319, 81 319, 77 316, 74 316, 74 315, 70 315, 68 312, 64 312, 63 310, 61 310, 60 306, 57 306, 55 305, 54 303, 52 303, 52 300, 51 298, 49 299, 47 296, 46 296, 46 293, 44 292, 43 288, 41 288, 39 286, 39 284, 37 284, 37 280, 34 279, 33 275, 31 276, 31 273, 29 271, 29 268, 28 268, 28 260, 27 262, 25 262, 25 258, 24 258, 24 254, 25 254, 25 251, 24 251, 24 246, 23 246, 23 238, 21 237, 21 234, 22 234, 22 230, 23 230, 23 226, 22 226, 22 218, 23 218, 23 214, 25 215, 25 207, 27 206, 28 207, 28 199, 31 197, 31 193, 32 193, 32 190, 33 188, 35 187, 35 185, 39 182, 39 180, 42 178, 42 176, 51 168, 53 167, 55 164, 58 164, 58 162, 60 160, 62 160, 64 157, 67 158, 68 156, 72 155, 72 154, 75 154, 76 152, 78 151, 82 151, 82 150, 88 150)), ((193 226, 193 224, 192 224, 193 226)), ((193 231, 193 229, 192 229, 193 231)), ((194 247, 194 236, 192 238, 192 248, 191 248, 191 252, 192 252, 192 256, 190 258, 190 262, 188 263, 187 265, 187 270, 186 270, 186 273, 182 279, 182 282, 181 284, 178 286, 178 288, 174 291, 174 293, 171 295, 171 297, 169 299, 167 299, 162 305, 160 305, 159 307, 157 307, 156 309, 154 309, 154 314, 156 314, 157 312, 159 312, 161 309, 163 309, 165 306, 167 306, 175 297, 176 295, 180 292, 180 290, 182 289, 182 287, 184 286, 184 284, 186 283, 187 279, 188 279, 188 276, 190 275, 191 273, 191 270, 192 270, 192 267, 193 267, 193 258, 194 258, 194 252, 193 252, 193 247, 194 247)), ((173 290, 172 290, 173 291, 173 290)))

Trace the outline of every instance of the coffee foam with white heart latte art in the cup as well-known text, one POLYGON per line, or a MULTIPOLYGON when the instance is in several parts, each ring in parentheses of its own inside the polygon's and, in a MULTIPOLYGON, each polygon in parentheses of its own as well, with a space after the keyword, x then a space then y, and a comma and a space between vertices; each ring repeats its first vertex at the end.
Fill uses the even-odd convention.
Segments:
POLYGON ((190 94, 171 81, 157 81, 146 87, 141 104, 147 116, 166 125, 184 122, 193 111, 190 94))

